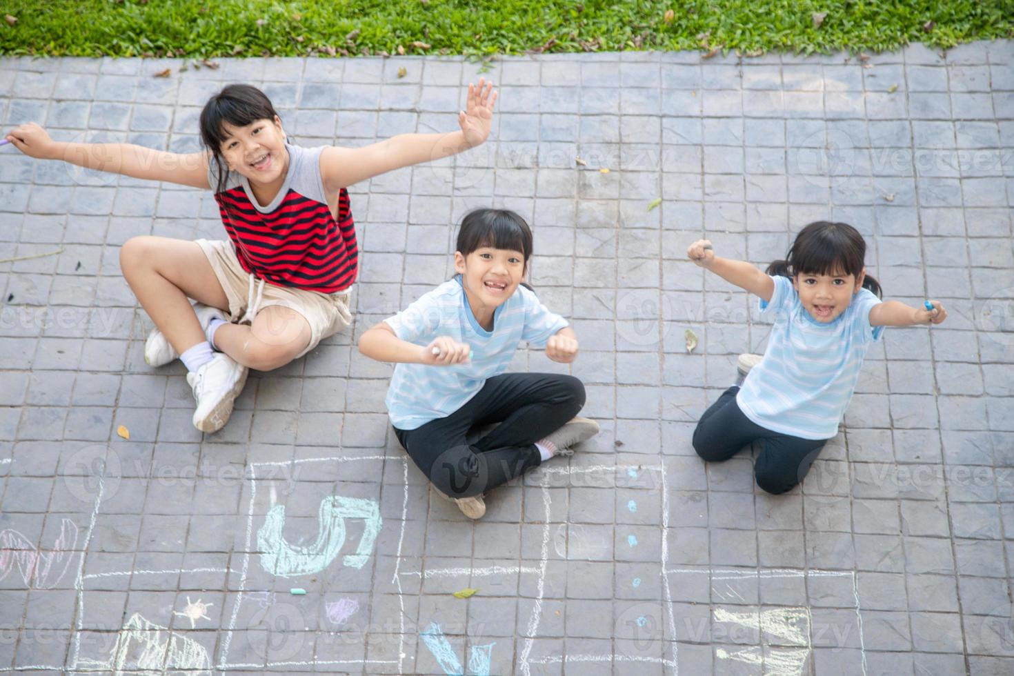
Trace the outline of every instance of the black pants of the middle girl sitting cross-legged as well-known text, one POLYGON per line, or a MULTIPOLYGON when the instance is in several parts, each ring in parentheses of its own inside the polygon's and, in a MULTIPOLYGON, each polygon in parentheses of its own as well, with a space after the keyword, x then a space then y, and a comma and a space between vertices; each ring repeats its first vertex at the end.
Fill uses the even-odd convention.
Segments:
POLYGON ((433 484, 451 498, 474 498, 541 462, 534 443, 556 432, 584 405, 584 385, 573 376, 505 373, 446 418, 394 434, 433 484), (476 426, 500 426, 473 445, 476 426))

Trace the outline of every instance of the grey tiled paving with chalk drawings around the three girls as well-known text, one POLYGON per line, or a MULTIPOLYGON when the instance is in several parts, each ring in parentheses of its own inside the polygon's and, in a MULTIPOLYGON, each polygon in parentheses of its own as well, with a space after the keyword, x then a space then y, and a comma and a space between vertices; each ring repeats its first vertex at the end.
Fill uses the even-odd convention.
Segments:
MULTIPOLYGON (((480 69, 178 66, 0 60, 0 120, 189 151, 207 96, 246 81, 296 142, 356 145, 454 129, 480 69)), ((356 186, 355 330, 251 377, 210 436, 183 367, 143 362, 118 248, 221 237, 211 196, 0 150, 0 258, 43 254, 0 264, 0 666, 1014 672, 1014 43, 866 62, 569 55, 487 75, 486 146, 356 186), (390 434, 388 367, 350 346, 447 279, 450 224, 490 204, 534 224, 532 282, 574 318, 603 432, 473 524, 390 434), (705 467, 691 448, 769 327, 684 251, 706 235, 767 264, 825 218, 866 235, 888 297, 942 299, 950 318, 887 329, 804 489, 770 497, 748 454, 705 467), (272 537, 302 568, 258 553, 272 537)), ((536 352, 517 367, 560 368, 536 352)))

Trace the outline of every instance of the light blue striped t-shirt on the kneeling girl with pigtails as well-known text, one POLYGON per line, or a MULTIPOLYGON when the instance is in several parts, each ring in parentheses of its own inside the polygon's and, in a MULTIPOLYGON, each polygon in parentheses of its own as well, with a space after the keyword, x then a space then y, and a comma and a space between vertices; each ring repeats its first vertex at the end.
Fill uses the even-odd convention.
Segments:
POLYGON ((883 326, 870 325, 870 310, 881 301, 860 289, 845 312, 821 323, 803 307, 789 278, 772 279, 771 301, 760 299, 760 313, 775 315, 768 351, 747 374, 736 403, 773 432, 830 439, 849 407, 866 351, 883 332, 883 326))

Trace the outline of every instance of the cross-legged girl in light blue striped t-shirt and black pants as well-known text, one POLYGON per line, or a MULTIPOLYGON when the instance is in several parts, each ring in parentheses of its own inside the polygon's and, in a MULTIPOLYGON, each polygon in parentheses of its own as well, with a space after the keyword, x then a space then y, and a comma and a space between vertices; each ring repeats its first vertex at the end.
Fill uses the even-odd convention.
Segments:
POLYGON ((486 513, 483 493, 537 467, 598 432, 584 385, 569 375, 504 373, 518 345, 555 362, 577 358, 567 320, 522 284, 531 229, 520 216, 479 209, 457 235, 457 275, 359 339, 359 351, 394 362, 387 410, 416 465, 461 512, 486 513), (474 427, 499 424, 473 444, 474 427))

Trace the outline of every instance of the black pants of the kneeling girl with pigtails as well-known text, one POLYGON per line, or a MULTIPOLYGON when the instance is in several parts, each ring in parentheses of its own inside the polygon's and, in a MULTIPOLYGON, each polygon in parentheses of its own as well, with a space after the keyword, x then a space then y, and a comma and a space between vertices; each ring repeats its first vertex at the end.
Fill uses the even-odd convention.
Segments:
POLYGON ((768 493, 785 493, 803 480, 826 439, 802 439, 772 432, 743 415, 733 385, 713 403, 694 430, 694 450, 708 462, 728 460, 756 441, 760 447, 753 475, 768 493))

